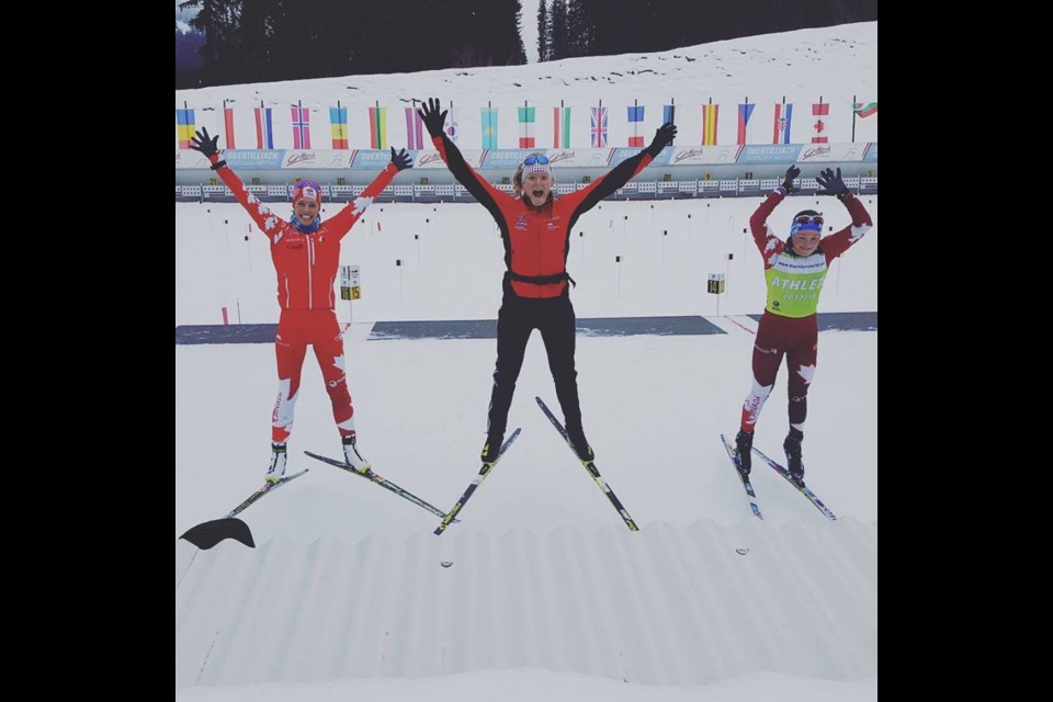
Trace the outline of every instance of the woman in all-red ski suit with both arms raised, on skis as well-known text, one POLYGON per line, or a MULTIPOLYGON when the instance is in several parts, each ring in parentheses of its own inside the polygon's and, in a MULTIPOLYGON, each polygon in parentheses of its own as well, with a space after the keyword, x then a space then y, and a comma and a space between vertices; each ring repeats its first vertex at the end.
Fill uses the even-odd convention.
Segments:
POLYGON ((286 445, 293 430, 293 416, 299 397, 299 378, 307 347, 315 348, 326 392, 332 403, 332 418, 343 442, 344 458, 355 471, 365 473, 369 462, 358 450, 354 431, 354 408, 344 376, 343 335, 337 322, 333 283, 340 260, 340 241, 359 220, 373 199, 392 182, 395 173, 410 168, 406 150, 397 155, 392 148, 392 162, 370 183, 365 191, 328 220, 322 220, 321 189, 313 180, 301 180, 293 193, 293 216, 282 219, 245 188, 241 179, 219 159, 218 136, 208 136, 202 128, 192 139, 192 147, 210 161, 223 182, 249 213, 271 244, 271 260, 278 273, 278 304, 282 314, 278 322, 274 349, 278 355, 278 398, 271 416, 271 463, 269 483, 285 473, 286 445))

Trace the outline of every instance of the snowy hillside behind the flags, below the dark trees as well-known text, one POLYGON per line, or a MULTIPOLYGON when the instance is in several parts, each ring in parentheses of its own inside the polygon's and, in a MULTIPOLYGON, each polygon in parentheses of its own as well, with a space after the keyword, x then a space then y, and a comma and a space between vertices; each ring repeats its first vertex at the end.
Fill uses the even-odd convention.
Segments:
MULTIPOLYGON (((661 124, 661 105, 677 106, 678 144, 702 143, 701 105, 721 106, 717 144, 735 144, 737 104, 755 105, 747 125, 750 144, 770 144, 775 103, 794 105, 791 140, 812 136, 812 103, 829 103, 826 134, 830 141, 850 141, 853 98, 878 100, 878 23, 865 22, 785 34, 716 42, 655 54, 570 58, 561 61, 420 73, 349 76, 294 82, 222 86, 177 90, 176 107, 196 109, 197 124, 223 134, 223 104, 235 109, 239 146, 254 145, 253 107, 273 109, 274 146, 292 147, 290 107, 310 109, 313 145, 328 148, 329 107, 348 107, 352 148, 370 145, 367 109, 387 107, 389 143, 405 146, 403 107, 414 100, 438 97, 453 102, 462 148, 479 148, 479 110, 498 107, 501 148, 518 144, 516 107, 537 107, 534 133, 539 145, 551 146, 553 107, 571 107, 571 145, 589 144, 589 109, 600 101, 610 109, 610 139, 625 146, 630 134, 626 106, 646 106, 641 134, 661 124)), ((856 140, 878 140, 878 115, 856 120, 856 140)))

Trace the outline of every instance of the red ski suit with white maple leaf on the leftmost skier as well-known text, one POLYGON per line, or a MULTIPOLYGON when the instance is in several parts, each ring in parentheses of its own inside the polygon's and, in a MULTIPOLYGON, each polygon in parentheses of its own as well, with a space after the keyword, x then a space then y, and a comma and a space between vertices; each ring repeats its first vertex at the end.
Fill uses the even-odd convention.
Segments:
MULTIPOLYGON (((213 163, 218 160, 218 156, 212 157, 213 163)), ((271 440, 284 442, 293 430, 308 346, 315 348, 340 434, 354 433, 354 407, 344 376, 343 335, 337 322, 333 293, 340 264, 340 241, 373 199, 392 182, 397 169, 389 163, 361 195, 310 234, 272 213, 246 190, 245 183, 230 168, 224 166, 216 172, 270 241, 271 261, 278 273, 278 304, 282 315, 274 339, 279 385, 271 417, 271 440)))

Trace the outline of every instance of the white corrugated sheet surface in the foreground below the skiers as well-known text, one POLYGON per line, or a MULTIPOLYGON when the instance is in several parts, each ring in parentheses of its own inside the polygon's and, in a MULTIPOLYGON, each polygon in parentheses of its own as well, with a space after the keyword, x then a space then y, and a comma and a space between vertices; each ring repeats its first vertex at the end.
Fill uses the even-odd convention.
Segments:
POLYGON ((455 529, 178 541, 177 688, 502 668, 644 684, 878 675, 876 522, 455 529))

